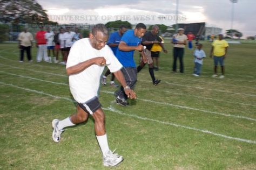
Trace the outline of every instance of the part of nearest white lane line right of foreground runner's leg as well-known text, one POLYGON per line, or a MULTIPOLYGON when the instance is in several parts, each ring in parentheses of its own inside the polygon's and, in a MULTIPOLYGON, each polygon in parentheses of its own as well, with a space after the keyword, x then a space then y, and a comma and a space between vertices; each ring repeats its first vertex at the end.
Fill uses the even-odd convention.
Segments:
POLYGON ((106 110, 110 110, 110 111, 116 112, 119 115, 124 115, 124 116, 134 117, 134 118, 137 118, 137 119, 142 119, 144 121, 157 122, 157 123, 160 123, 160 124, 166 124, 166 125, 175 126, 177 128, 190 129, 190 130, 199 131, 199 132, 203 132, 203 133, 213 134, 214 136, 219 136, 219 137, 223 137, 223 138, 227 138, 227 139, 243 141, 243 142, 250 143, 250 144, 256 144, 255 140, 242 139, 242 138, 226 136, 225 134, 215 133, 215 132, 211 132, 211 131, 208 131, 208 130, 197 129, 197 128, 193 128, 193 127, 190 127, 190 126, 179 125, 179 124, 171 123, 171 122, 158 121, 157 119, 151 119, 151 118, 147 118, 147 117, 137 116, 136 114, 125 114, 124 112, 116 110, 113 107, 109 107, 106 110))

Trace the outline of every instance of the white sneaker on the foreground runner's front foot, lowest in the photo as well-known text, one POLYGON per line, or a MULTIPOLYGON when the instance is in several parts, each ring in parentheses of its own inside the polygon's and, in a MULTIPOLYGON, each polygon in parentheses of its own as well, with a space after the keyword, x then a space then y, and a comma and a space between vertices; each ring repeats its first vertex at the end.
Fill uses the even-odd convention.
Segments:
POLYGON ((111 152, 110 150, 106 152, 106 156, 103 158, 104 166, 117 166, 123 161, 123 157, 116 153, 111 152))

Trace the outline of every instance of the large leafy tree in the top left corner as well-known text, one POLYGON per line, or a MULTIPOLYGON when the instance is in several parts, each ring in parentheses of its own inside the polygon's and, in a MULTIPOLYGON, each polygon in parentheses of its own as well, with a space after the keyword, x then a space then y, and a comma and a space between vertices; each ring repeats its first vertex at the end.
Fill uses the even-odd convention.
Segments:
POLYGON ((57 24, 50 22, 48 15, 36 0, 0 1, 0 22, 14 24, 57 24))

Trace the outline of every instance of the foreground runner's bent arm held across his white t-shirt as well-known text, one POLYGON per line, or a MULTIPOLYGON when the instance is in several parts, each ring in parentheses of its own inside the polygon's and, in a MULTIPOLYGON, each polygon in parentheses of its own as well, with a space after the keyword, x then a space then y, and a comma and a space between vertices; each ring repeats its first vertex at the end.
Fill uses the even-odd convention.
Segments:
POLYGON ((90 67, 91 65, 98 65, 98 66, 104 66, 106 64, 106 60, 103 56, 99 56, 96 58, 92 58, 89 60, 86 60, 84 62, 80 62, 75 66, 71 66, 66 68, 66 74, 77 74, 85 70, 86 68, 90 67))

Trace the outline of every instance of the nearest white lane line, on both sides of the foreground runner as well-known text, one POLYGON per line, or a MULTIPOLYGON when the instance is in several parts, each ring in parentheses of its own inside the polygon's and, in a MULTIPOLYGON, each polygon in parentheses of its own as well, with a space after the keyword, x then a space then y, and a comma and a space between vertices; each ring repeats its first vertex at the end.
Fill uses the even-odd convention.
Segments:
MULTIPOLYGON (((68 98, 68 97, 55 96, 55 95, 51 95, 51 94, 48 94, 48 93, 44 93, 43 91, 37 91, 37 90, 29 89, 29 88, 15 86, 14 84, 4 83, 4 82, 1 82, 1 81, 0 81, 0 84, 3 84, 4 86, 10 86, 10 87, 30 91, 32 93, 37 93, 37 94, 46 95, 46 96, 50 96, 50 97, 57 98, 57 99, 63 99, 63 100, 75 102, 74 100, 72 100, 71 98, 68 98)), ((227 138, 227 139, 231 139, 231 140, 237 140, 237 141, 242 141, 242 142, 245 142, 245 143, 256 144, 255 140, 236 138, 236 137, 226 136, 225 134, 211 132, 211 131, 204 130, 204 129, 197 129, 197 128, 192 128, 190 126, 179 125, 179 124, 175 124, 175 123, 171 123, 171 122, 158 121, 157 119, 151 119, 151 118, 141 117, 141 116, 137 116, 137 115, 125 114, 124 112, 113 109, 113 107, 111 107, 111 106, 109 108, 103 108, 103 109, 115 112, 119 115, 124 115, 124 116, 134 117, 134 118, 137 118, 137 119, 142 119, 144 121, 151 121, 151 122, 157 122, 157 123, 160 123, 160 124, 172 125, 172 126, 176 126, 177 128, 184 128, 184 129, 199 131, 199 132, 208 133, 208 134, 212 134, 214 136, 223 137, 223 138, 227 138)))

